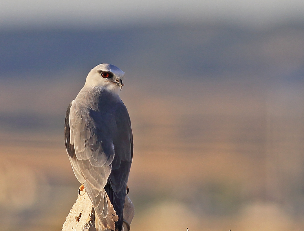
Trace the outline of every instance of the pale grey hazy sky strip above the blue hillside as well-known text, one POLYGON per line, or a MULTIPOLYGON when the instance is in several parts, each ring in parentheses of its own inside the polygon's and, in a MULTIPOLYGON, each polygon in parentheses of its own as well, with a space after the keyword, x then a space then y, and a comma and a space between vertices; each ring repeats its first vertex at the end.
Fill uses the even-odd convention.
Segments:
POLYGON ((2 0, 0 28, 24 25, 125 25, 180 21, 226 21, 264 26, 304 20, 303 0, 2 0))

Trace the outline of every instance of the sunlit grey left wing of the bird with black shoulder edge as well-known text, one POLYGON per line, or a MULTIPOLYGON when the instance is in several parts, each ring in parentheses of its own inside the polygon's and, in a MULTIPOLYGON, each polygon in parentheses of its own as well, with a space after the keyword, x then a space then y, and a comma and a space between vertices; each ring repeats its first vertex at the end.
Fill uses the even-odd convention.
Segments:
POLYGON ((78 181, 87 181, 93 189, 102 190, 111 172, 114 149, 108 146, 112 142, 101 141, 103 137, 96 134, 89 111, 71 113, 75 110, 73 103, 67 108, 64 126, 67 153, 78 181))

